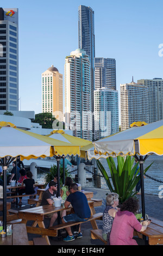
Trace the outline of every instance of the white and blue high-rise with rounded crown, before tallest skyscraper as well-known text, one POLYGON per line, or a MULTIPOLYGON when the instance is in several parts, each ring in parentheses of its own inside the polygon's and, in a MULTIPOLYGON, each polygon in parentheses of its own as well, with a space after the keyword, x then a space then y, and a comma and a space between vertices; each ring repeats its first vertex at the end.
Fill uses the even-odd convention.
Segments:
POLYGON ((77 49, 65 59, 65 127, 92 141, 90 60, 77 49))

